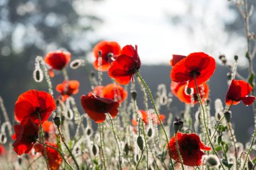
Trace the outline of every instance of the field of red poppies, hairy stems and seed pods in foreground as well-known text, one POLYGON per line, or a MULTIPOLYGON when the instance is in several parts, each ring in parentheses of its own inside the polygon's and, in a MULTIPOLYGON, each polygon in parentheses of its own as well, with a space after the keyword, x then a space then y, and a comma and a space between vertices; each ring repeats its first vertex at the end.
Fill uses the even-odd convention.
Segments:
POLYGON ((247 0, 232 3, 243 18, 247 52, 231 59, 203 51, 170 54, 170 77, 161 79, 171 83, 159 83, 156 93, 141 75, 136 42, 98 41, 92 63, 63 49, 34 54, 31 77, 38 88, 16 96, 13 120, 0 96, 0 170, 256 169, 256 36, 250 27, 255 10, 247 0), (248 63, 246 77, 237 70, 241 58, 248 63), (226 81, 212 82, 218 63, 228 69, 226 81), (70 79, 74 71, 84 77, 70 79), (62 83, 54 86, 57 78, 62 83), (79 87, 85 80, 90 91, 79 87), (209 82, 228 85, 226 97, 211 99, 216 92, 209 82), (185 105, 179 115, 171 112, 176 98, 185 105), (247 143, 236 140, 232 112, 238 105, 254 115, 247 143))

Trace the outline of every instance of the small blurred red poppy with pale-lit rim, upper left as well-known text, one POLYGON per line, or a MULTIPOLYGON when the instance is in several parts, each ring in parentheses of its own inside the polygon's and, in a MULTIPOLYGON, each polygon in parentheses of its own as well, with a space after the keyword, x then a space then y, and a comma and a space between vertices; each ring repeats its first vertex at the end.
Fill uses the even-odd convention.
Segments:
POLYGON ((51 51, 44 56, 44 61, 51 68, 61 71, 71 60, 70 52, 57 50, 51 51))

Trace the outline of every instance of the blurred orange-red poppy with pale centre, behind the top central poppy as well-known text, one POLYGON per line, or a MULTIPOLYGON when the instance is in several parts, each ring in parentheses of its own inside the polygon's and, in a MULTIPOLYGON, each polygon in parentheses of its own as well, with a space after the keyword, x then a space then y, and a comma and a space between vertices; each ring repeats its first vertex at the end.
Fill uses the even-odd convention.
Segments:
POLYGON ((102 41, 96 44, 93 51, 96 58, 96 60, 94 61, 94 68, 96 70, 100 69, 98 66, 98 54, 99 52, 101 52, 101 71, 108 71, 111 62, 113 62, 113 59, 120 54, 121 48, 117 42, 102 41))

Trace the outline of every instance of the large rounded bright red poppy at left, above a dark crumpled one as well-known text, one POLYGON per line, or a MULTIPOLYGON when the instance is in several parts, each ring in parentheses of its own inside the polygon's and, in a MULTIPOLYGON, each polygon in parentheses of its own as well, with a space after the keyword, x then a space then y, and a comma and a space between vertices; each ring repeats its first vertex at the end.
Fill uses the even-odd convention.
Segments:
POLYGON ((30 117, 39 124, 38 113, 42 123, 47 120, 56 109, 55 99, 45 91, 29 90, 22 93, 15 103, 15 119, 22 121, 30 117))

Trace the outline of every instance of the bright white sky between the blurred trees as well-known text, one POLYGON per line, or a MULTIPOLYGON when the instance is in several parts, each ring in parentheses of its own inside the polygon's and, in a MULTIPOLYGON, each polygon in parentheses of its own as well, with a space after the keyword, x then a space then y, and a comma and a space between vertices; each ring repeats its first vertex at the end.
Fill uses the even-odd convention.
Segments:
POLYGON ((245 39, 225 32, 224 23, 238 17, 228 5, 225 0, 104 0, 84 2, 78 10, 104 20, 96 38, 137 44, 143 63, 168 64, 172 54, 245 54, 245 39))

